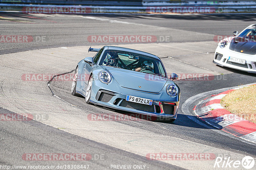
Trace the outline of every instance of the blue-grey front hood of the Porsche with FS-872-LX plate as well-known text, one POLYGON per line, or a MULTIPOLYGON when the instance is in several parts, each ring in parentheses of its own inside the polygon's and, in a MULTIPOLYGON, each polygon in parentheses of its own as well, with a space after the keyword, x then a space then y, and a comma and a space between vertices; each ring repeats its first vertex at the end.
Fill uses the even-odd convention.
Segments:
POLYGON ((103 66, 118 84, 122 87, 147 92, 160 92, 168 78, 141 73, 137 71, 125 70, 121 68, 103 66))

